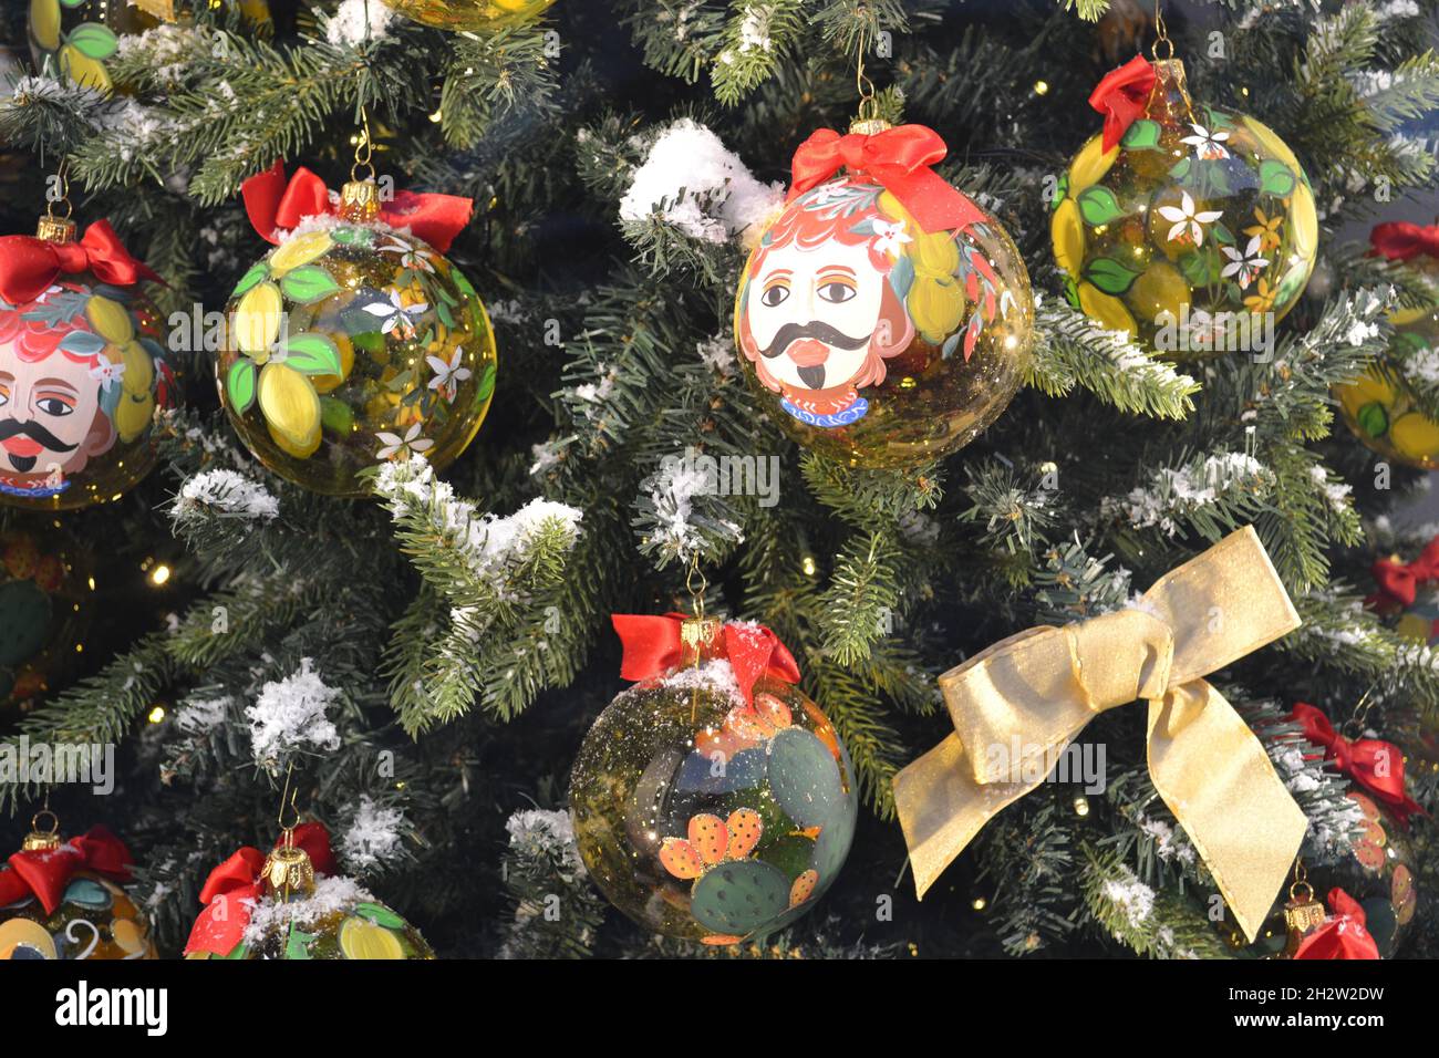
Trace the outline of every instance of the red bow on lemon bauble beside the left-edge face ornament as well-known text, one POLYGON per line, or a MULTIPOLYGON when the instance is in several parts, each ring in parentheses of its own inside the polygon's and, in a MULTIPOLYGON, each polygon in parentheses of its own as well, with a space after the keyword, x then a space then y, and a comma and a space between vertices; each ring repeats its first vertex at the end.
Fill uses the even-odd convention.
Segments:
MULTIPOLYGON (((330 199, 325 181, 301 167, 285 181, 285 163, 276 161, 243 184, 245 212, 265 242, 278 243, 279 232, 296 227, 305 217, 332 214, 338 206, 330 199)), ((380 204, 378 220, 390 227, 407 227, 440 253, 465 230, 475 203, 456 194, 416 194, 396 191, 380 204)))

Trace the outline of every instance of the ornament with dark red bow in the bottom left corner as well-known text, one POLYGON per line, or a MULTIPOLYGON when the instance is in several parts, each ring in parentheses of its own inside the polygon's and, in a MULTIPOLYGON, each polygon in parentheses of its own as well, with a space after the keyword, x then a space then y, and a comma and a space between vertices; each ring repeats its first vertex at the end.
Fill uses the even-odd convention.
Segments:
POLYGON ((71 841, 58 831, 42 812, 0 864, 0 959, 155 959, 150 924, 119 885, 130 851, 104 826, 71 841))

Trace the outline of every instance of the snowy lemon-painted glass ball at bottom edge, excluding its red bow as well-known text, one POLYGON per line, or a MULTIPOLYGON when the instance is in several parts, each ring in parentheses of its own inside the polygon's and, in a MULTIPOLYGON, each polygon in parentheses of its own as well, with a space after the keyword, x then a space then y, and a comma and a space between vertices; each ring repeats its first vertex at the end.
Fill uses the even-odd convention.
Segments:
POLYGON ((229 954, 187 959, 433 959, 410 923, 344 877, 319 878, 314 892, 281 900, 271 892, 250 911, 243 940, 229 954))

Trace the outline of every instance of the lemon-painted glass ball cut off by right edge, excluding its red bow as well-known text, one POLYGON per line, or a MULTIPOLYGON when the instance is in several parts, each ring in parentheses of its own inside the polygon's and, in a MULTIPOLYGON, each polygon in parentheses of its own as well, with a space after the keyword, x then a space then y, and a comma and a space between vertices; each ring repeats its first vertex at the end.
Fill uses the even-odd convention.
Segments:
POLYGON ((1439 308, 1402 309, 1390 315, 1394 338, 1387 363, 1363 379, 1334 387, 1345 425, 1374 452, 1423 471, 1439 469, 1439 422, 1406 379, 1413 364, 1432 371, 1439 356, 1439 308))

